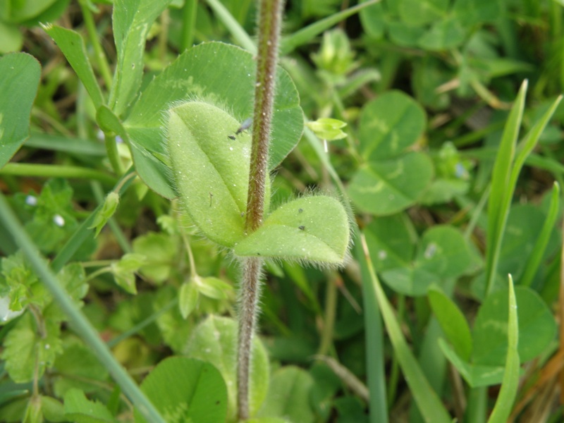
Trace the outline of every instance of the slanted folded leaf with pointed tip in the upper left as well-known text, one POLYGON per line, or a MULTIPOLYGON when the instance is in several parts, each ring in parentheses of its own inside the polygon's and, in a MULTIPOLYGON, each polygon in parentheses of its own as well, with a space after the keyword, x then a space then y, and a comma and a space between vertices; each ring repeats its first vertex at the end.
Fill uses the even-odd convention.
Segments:
POLYGON ((90 94, 94 109, 98 109, 104 103, 104 97, 102 97, 102 90, 100 90, 94 71, 92 71, 92 65, 88 60, 84 39, 78 32, 57 25, 44 25, 43 29, 55 40, 90 94))

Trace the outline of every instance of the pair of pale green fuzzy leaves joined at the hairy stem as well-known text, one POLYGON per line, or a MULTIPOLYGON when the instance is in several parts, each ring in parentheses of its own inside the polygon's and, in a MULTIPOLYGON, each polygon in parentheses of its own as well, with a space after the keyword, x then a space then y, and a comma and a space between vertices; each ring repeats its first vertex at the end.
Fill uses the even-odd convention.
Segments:
MULTIPOLYGON (((185 102, 168 116, 168 152, 183 207, 210 240, 239 257, 342 264, 350 242, 343 204, 316 195, 292 200, 245 233, 251 138, 233 140, 240 123, 206 102, 185 102)), ((269 211, 269 184, 264 210, 269 211)))

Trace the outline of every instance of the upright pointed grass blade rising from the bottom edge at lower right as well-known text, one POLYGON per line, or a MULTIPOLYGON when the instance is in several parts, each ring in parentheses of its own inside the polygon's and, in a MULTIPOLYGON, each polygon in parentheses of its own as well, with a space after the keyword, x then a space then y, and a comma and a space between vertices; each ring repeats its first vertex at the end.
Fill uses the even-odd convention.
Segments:
POLYGON ((509 275, 508 351, 505 360, 505 374, 494 411, 491 412, 488 423, 507 422, 517 396, 520 366, 519 353, 517 352, 519 343, 519 326, 517 323, 517 301, 513 289, 513 278, 509 275))

